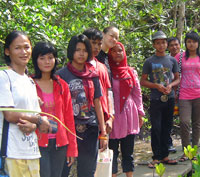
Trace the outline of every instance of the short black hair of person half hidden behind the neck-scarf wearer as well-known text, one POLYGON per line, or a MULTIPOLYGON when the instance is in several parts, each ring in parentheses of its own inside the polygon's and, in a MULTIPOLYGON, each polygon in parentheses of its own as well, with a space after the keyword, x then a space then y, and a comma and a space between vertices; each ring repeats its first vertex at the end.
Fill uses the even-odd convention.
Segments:
POLYGON ((83 32, 84 35, 88 37, 90 40, 102 40, 103 34, 96 28, 89 28, 83 32))

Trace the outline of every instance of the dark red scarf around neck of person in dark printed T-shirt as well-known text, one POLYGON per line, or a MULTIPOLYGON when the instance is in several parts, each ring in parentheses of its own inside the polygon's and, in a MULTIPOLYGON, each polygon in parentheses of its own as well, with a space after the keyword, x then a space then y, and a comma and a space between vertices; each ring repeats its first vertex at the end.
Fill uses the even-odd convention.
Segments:
POLYGON ((72 72, 75 76, 80 77, 83 80, 83 86, 85 90, 85 94, 88 100, 88 108, 94 106, 94 83, 92 81, 93 77, 98 77, 98 73, 94 66, 88 62, 85 63, 84 71, 78 71, 76 68, 72 66, 70 62, 67 63, 67 68, 70 72, 72 72))

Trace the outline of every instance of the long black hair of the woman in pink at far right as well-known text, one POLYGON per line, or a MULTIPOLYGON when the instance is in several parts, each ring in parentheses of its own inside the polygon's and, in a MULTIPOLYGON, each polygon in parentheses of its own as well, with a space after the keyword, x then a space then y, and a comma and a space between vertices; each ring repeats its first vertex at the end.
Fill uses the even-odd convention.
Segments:
POLYGON ((189 56, 190 56, 189 51, 188 51, 188 49, 187 49, 187 45, 186 45, 186 42, 187 42, 188 39, 192 39, 192 40, 198 42, 198 47, 197 47, 196 53, 197 53, 197 55, 200 57, 200 52, 199 52, 200 37, 199 37, 199 35, 198 35, 196 32, 191 31, 191 32, 189 32, 189 33, 186 33, 186 36, 185 36, 185 47, 186 47, 186 52, 185 52, 185 53, 186 53, 186 60, 187 60, 187 59, 189 58, 189 56))

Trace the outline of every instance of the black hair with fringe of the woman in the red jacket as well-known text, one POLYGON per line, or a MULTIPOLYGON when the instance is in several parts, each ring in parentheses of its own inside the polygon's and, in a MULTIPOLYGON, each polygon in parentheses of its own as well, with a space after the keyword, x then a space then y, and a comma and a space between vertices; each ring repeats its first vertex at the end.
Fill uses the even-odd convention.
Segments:
POLYGON ((56 72, 56 66, 57 66, 57 50, 55 49, 55 47, 53 46, 53 44, 51 44, 50 42, 38 42, 36 43, 35 47, 33 48, 32 51, 32 61, 33 61, 33 66, 34 66, 34 70, 35 70, 35 75, 34 78, 40 79, 42 77, 42 72, 38 67, 38 57, 39 56, 43 56, 46 54, 53 54, 54 58, 55 58, 55 65, 51 71, 51 78, 55 80, 55 72, 56 72))

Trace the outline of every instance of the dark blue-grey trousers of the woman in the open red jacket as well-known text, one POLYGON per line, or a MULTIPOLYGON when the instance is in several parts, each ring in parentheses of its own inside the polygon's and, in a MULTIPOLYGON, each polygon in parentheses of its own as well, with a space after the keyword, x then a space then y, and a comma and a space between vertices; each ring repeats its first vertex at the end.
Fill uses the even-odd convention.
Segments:
POLYGON ((56 147, 56 140, 50 139, 48 147, 40 147, 40 176, 61 177, 67 146, 56 147))

